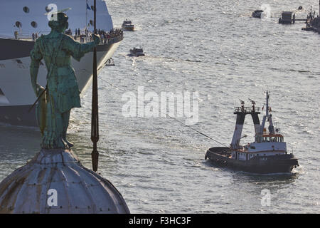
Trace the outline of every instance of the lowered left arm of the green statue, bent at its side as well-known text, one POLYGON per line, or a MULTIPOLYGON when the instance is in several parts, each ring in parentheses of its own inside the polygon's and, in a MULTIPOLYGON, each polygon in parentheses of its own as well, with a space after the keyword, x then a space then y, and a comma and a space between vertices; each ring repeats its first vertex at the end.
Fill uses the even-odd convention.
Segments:
POLYGON ((30 76, 31 76, 31 85, 34 90, 34 93, 38 96, 41 91, 44 89, 37 83, 38 71, 40 66, 40 61, 42 59, 42 55, 39 49, 39 43, 37 41, 34 45, 33 50, 31 51, 31 65, 30 65, 30 76))

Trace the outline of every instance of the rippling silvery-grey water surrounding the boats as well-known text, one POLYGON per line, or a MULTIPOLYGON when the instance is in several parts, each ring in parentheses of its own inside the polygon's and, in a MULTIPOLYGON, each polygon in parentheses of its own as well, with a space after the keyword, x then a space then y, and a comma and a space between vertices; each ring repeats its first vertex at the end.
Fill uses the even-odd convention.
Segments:
MULTIPOLYGON (((314 0, 304 1, 304 8, 314 0)), ((133 213, 309 213, 319 199, 319 34, 302 22, 278 24, 282 10, 300 1, 108 1, 114 26, 126 18, 137 31, 124 32, 115 67, 100 73, 100 172, 122 193, 133 213), (252 19, 262 4, 271 16, 252 19), (145 57, 127 56, 142 46, 145 57), (107 83, 108 82, 108 83, 107 83), (109 83, 114 84, 110 86, 109 83), (198 91, 193 128, 229 145, 239 99, 257 107, 271 91, 274 122, 289 152, 299 158, 292 175, 251 175, 215 167, 204 155, 217 143, 170 118, 124 118, 124 91, 198 91), (261 204, 261 191, 271 204, 261 204)), ((297 13, 297 18, 306 15, 297 13), (301 16, 300 16, 301 15, 301 16)), ((69 138, 82 164, 91 168, 91 91, 73 110, 69 138)), ((260 115, 260 118, 262 116, 260 115)), ((178 118, 183 121, 185 119, 178 118)), ((242 142, 253 140, 245 121, 242 142)), ((0 127, 0 180, 38 151, 37 130, 0 127)))

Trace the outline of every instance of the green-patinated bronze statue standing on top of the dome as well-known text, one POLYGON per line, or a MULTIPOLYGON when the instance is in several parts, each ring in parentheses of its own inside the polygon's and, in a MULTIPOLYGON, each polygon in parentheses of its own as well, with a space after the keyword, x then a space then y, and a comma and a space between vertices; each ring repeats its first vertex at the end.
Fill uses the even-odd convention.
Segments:
POLYGON ((31 83, 36 95, 41 96, 36 107, 41 130, 41 147, 44 149, 70 148, 66 139, 70 110, 80 108, 80 91, 75 72, 70 66, 71 56, 77 61, 100 43, 93 35, 93 42, 80 44, 63 32, 68 28, 68 16, 58 13, 56 21, 49 21, 51 32, 37 39, 31 51, 31 83), (48 69, 47 86, 37 83, 41 60, 48 69))

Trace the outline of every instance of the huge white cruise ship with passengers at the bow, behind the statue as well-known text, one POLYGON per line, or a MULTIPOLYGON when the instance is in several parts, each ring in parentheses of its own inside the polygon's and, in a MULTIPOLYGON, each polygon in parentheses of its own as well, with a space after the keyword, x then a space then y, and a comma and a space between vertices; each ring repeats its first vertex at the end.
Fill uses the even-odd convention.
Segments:
MULTIPOLYGON (((31 86, 29 66, 30 52, 35 36, 50 33, 48 14, 55 10, 68 10, 69 28, 75 34, 93 32, 94 0, 11 0, 1 1, 0 7, 0 123, 36 126, 35 109, 29 109, 36 101, 31 86)), ((97 29, 112 31, 113 24, 103 0, 97 0, 97 29)), ((97 46, 97 69, 99 71, 112 58, 122 34, 107 36, 97 46)), ((89 41, 82 38, 81 41, 89 41)), ((80 38, 78 39, 80 41, 80 38)), ((93 52, 87 53, 81 61, 72 60, 81 94, 92 82, 93 52)), ((41 63, 38 83, 46 86, 46 66, 41 63)))

